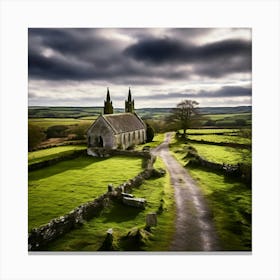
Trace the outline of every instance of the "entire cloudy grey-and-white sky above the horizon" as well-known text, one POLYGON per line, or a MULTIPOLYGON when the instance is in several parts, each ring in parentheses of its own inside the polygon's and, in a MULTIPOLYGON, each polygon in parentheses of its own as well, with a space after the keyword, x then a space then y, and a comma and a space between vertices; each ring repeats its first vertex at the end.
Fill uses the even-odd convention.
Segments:
POLYGON ((31 28, 29 106, 251 105, 251 29, 31 28))

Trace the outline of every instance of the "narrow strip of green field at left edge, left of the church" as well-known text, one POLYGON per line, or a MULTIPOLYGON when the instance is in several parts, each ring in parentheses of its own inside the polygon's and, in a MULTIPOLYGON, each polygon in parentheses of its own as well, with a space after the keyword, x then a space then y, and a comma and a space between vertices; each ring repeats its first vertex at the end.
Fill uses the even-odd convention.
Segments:
POLYGON ((38 163, 49 159, 54 159, 63 155, 71 154, 72 151, 86 149, 85 145, 69 145, 38 150, 28 153, 28 164, 38 163))

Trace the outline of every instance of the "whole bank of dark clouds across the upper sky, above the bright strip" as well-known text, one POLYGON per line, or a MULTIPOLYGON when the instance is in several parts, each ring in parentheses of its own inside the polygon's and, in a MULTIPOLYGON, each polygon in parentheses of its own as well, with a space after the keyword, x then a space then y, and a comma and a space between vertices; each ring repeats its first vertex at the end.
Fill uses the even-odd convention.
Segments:
POLYGON ((222 77, 250 71, 248 41, 226 40, 198 46, 191 39, 208 34, 212 29, 163 29, 162 33, 169 37, 154 31, 29 29, 29 78, 161 84, 167 80, 184 80, 191 75, 222 77), (125 42, 110 36, 116 31, 131 40, 125 42), (178 67, 174 67, 175 64, 178 67), (189 66, 188 71, 185 66, 189 66))

